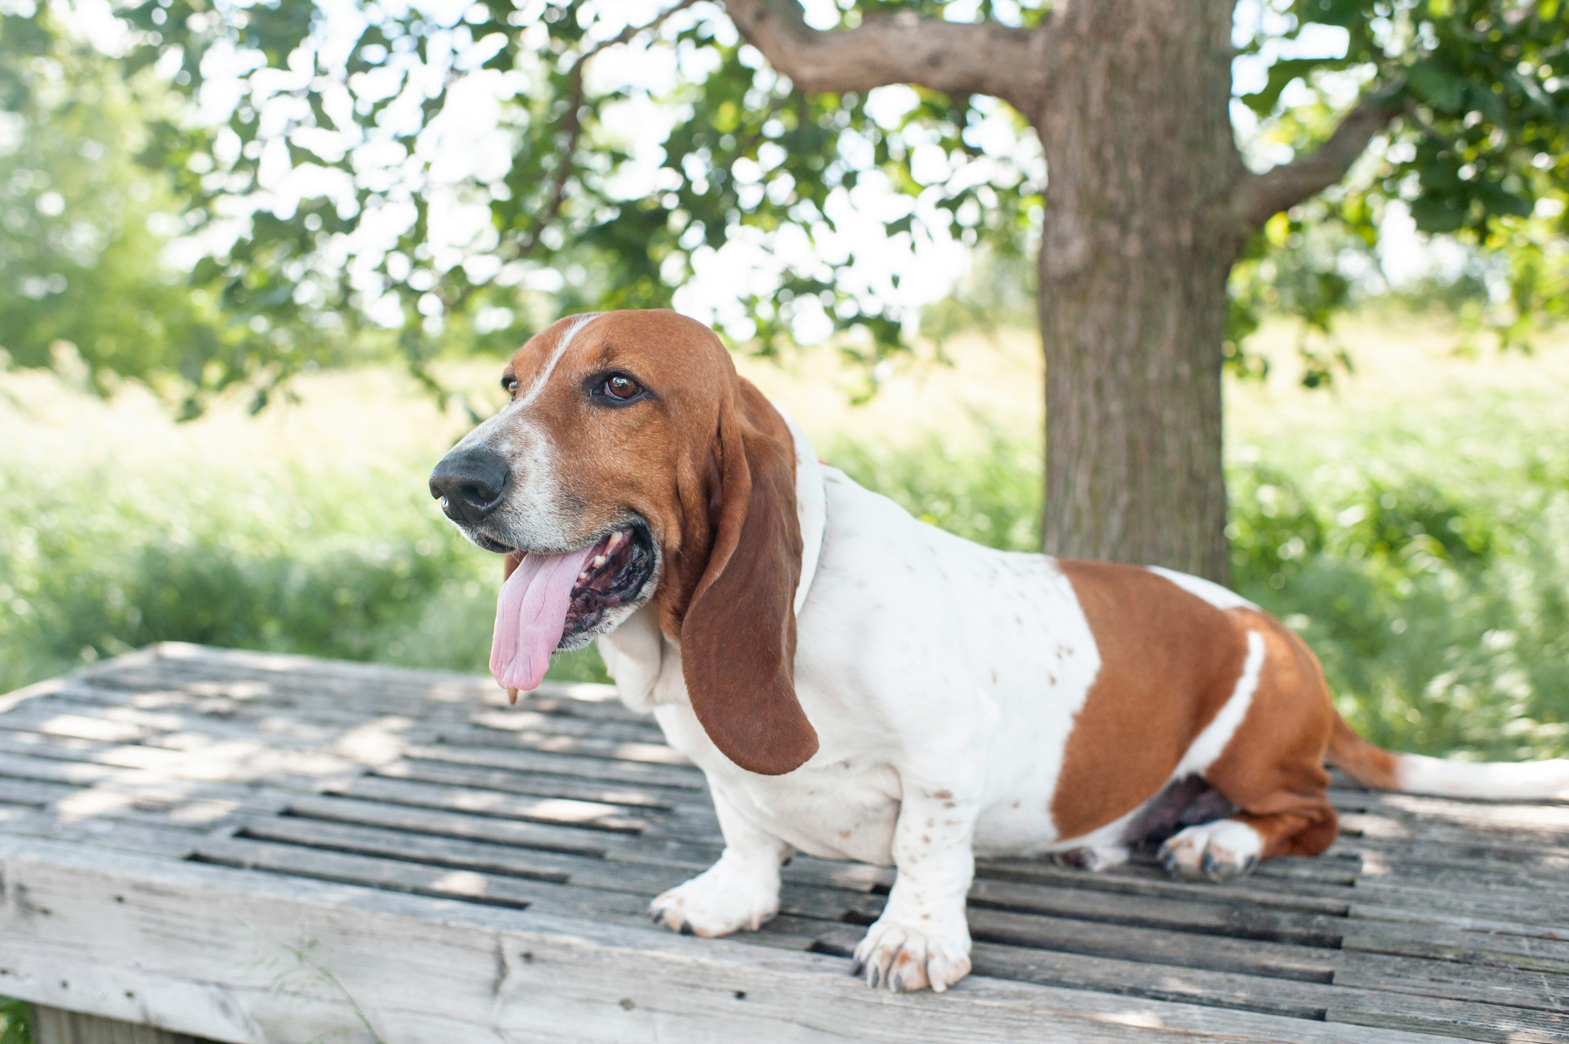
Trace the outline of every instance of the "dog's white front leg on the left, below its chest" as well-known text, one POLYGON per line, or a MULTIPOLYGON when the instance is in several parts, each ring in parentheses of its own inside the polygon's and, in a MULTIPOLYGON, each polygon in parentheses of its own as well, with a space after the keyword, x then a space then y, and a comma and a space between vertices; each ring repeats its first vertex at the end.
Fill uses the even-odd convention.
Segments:
POLYGON ((714 812, 725 835, 719 862, 648 906, 656 925, 697 936, 756 931, 780 909, 780 867, 789 845, 752 826, 712 783, 714 812))

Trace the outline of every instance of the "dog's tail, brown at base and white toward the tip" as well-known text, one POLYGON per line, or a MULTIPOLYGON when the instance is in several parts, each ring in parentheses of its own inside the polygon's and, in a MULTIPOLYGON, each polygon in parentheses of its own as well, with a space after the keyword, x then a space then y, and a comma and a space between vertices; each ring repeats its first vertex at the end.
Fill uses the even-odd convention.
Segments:
POLYGON ((1420 754, 1390 754, 1351 732, 1335 714, 1327 761, 1363 787, 1442 798, 1569 801, 1569 760, 1445 761, 1420 754))

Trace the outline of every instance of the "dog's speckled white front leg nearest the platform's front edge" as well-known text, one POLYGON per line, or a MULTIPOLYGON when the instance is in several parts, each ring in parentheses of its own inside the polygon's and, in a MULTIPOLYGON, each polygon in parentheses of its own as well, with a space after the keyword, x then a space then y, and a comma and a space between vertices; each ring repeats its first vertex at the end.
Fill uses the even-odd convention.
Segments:
POLYGON ((882 917, 855 947, 854 975, 869 986, 941 992, 970 973, 965 893, 974 876, 974 834, 981 802, 954 783, 904 780, 893 837, 899 868, 882 917))

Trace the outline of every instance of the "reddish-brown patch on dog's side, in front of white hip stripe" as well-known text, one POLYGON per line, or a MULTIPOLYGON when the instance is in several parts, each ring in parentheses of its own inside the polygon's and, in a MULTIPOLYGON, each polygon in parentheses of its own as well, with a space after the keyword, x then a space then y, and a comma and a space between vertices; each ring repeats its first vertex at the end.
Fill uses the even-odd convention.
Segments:
POLYGON ((1161 790, 1236 691, 1246 636, 1150 570, 1058 559, 1100 652, 1051 798, 1058 837, 1089 834, 1161 790))

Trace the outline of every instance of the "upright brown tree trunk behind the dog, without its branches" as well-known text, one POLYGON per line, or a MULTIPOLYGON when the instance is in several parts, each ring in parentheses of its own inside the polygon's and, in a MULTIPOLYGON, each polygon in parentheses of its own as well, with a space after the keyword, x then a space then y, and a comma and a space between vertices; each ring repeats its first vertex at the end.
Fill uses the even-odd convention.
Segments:
POLYGON ((1221 471, 1230 0, 1067 0, 1053 19, 1040 330, 1048 554, 1227 582, 1221 471))

